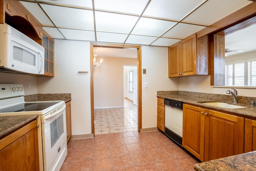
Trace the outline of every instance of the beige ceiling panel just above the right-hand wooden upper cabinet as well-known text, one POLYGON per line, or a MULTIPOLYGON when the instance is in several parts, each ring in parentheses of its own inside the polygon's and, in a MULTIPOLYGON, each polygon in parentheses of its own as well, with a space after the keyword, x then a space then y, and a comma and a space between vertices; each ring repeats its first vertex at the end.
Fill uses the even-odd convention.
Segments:
POLYGON ((203 28, 206 28, 206 27, 192 25, 192 24, 179 23, 176 26, 174 26, 171 30, 166 32, 166 34, 164 34, 162 37, 184 39, 184 38, 194 34, 195 32, 202 30, 203 28))

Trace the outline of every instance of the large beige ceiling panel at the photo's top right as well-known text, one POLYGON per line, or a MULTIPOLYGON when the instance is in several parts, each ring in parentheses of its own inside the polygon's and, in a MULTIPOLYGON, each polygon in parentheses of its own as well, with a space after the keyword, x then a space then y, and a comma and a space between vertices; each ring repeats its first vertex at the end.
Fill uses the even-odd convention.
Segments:
POLYGON ((209 26, 250 3, 249 0, 208 0, 182 22, 209 26))

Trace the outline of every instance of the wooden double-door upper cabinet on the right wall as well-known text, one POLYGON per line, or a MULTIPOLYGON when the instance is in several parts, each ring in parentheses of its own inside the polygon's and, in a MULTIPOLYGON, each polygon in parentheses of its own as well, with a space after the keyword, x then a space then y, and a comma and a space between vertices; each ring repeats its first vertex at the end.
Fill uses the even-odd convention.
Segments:
POLYGON ((208 37, 197 39, 193 34, 169 47, 169 77, 208 75, 208 68, 208 37))

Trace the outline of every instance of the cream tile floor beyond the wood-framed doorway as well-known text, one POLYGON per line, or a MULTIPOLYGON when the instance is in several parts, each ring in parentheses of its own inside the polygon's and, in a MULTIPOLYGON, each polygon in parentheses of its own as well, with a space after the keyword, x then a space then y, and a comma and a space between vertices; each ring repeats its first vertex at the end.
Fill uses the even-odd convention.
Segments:
POLYGON ((138 131, 138 107, 124 99, 123 108, 95 109, 95 135, 138 131))

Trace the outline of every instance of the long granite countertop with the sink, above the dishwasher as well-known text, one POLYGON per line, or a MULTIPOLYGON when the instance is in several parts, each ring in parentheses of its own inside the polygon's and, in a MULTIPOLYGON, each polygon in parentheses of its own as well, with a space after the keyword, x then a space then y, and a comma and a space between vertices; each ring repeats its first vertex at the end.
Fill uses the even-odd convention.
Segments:
POLYGON ((182 101, 183 103, 186 103, 186 104, 201 106, 201 107, 205 107, 208 109, 216 109, 218 111, 228 112, 228 113, 235 114, 235 115, 238 115, 241 117, 247 117, 247 118, 251 118, 251 119, 256 118, 256 105, 252 106, 248 103, 247 104, 246 103, 234 104, 234 103, 232 103, 232 100, 205 98, 203 95, 202 95, 202 97, 195 97, 195 96, 190 96, 189 94, 188 95, 159 94, 159 95, 157 95, 157 97, 182 101), (232 105, 241 105, 241 106, 244 106, 245 108, 229 109, 229 108, 224 108, 224 107, 217 107, 217 106, 202 104, 202 103, 215 102, 215 101, 229 103, 232 105), (230 102, 227 102, 227 101, 230 101, 230 102))

